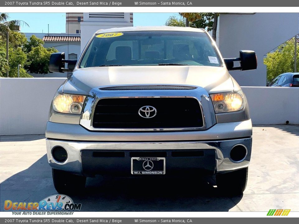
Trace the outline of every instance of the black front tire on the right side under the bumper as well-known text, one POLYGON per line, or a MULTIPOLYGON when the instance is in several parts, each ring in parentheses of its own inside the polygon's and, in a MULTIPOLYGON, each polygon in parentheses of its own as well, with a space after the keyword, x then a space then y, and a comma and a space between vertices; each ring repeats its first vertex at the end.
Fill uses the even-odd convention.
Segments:
POLYGON ((247 185, 248 167, 216 175, 217 189, 224 195, 236 196, 243 193, 247 185))

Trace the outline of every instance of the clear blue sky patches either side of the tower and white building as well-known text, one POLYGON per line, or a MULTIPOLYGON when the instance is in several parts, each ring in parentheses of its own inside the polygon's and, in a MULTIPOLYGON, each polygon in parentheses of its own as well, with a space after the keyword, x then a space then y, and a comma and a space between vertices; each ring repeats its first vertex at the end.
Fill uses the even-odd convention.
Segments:
MULTIPOLYGON (((65 32, 65 13, 9 13, 10 19, 23 20, 29 27, 21 27, 24 33, 47 33, 48 24, 50 33, 65 32)), ((169 16, 178 16, 173 13, 134 13, 134 26, 163 26, 169 16)))

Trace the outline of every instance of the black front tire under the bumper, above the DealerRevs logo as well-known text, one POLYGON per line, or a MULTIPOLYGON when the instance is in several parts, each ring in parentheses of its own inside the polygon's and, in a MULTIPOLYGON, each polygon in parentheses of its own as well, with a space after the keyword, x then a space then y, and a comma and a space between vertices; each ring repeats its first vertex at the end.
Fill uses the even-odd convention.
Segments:
POLYGON ((54 187, 59 194, 80 194, 85 188, 85 176, 52 168, 52 177, 54 187))

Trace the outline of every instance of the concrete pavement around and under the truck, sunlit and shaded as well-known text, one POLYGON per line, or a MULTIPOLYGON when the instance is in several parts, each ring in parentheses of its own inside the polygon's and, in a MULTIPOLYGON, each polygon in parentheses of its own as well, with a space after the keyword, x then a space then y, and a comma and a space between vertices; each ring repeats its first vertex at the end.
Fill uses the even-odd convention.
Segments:
MULTIPOLYGON (((44 135, 0 137, 0 211, 4 201, 33 202, 56 194, 44 135)), ((72 197, 82 211, 299 211, 299 126, 253 128, 244 194, 218 195, 213 178, 151 182, 88 178, 87 193, 72 197)))

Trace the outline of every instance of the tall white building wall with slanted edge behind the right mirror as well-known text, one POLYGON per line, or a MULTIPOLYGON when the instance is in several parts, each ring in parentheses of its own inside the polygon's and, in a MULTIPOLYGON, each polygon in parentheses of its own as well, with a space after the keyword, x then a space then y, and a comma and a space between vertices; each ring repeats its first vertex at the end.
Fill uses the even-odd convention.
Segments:
POLYGON ((263 56, 299 33, 299 13, 221 14, 218 26, 219 49, 224 58, 239 57, 239 50, 254 50, 257 54, 257 70, 230 74, 241 86, 266 86, 263 56))

